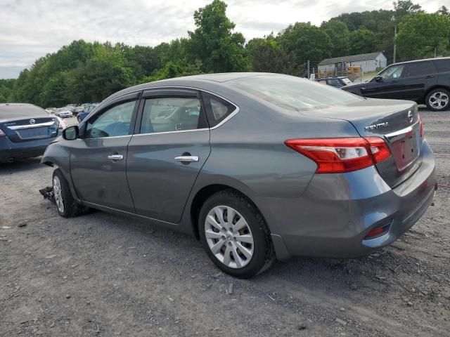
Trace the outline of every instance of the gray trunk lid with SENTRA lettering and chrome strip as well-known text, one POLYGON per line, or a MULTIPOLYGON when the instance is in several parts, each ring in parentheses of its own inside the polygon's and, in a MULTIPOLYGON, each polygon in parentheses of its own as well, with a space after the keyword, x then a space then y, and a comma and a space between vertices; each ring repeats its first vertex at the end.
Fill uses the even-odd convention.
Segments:
POLYGON ((309 116, 344 119, 363 136, 379 136, 392 157, 376 165, 390 187, 409 178, 421 164, 420 121, 416 103, 404 100, 365 99, 358 103, 302 112, 309 116))

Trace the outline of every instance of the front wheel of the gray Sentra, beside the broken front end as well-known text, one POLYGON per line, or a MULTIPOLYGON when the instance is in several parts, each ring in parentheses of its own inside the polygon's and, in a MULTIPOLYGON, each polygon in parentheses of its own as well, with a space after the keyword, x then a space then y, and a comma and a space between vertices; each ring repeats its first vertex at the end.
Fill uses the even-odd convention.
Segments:
POLYGON ((52 182, 56 209, 60 216, 71 218, 84 212, 86 208, 73 199, 68 181, 65 180, 60 169, 53 171, 52 182))

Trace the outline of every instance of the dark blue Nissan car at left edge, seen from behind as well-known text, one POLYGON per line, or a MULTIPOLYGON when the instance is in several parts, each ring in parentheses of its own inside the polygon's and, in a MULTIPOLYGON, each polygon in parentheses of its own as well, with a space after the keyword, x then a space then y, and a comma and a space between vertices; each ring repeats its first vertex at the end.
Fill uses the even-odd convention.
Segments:
POLYGON ((40 156, 58 127, 57 117, 36 105, 0 104, 0 163, 40 156))

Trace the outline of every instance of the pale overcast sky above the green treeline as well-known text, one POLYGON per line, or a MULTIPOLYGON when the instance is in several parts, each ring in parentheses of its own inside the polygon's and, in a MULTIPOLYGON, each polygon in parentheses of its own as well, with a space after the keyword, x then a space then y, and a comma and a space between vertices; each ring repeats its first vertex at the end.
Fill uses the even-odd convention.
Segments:
MULTIPOLYGON (((73 40, 156 46, 193 30, 193 12, 212 0, 0 0, 0 79, 73 40)), ((435 12, 449 0, 416 0, 435 12)), ((392 0, 225 0, 247 40, 294 22, 320 25, 340 13, 391 9, 392 0)), ((447 3, 448 4, 448 3, 447 3)))

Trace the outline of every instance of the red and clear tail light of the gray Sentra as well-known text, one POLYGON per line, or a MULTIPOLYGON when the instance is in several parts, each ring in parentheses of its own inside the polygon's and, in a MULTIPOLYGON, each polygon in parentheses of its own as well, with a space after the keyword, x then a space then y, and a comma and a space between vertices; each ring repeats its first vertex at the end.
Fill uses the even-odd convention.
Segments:
POLYGON ((289 139, 285 145, 315 161, 316 173, 356 171, 391 156, 379 137, 289 139))

